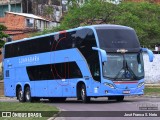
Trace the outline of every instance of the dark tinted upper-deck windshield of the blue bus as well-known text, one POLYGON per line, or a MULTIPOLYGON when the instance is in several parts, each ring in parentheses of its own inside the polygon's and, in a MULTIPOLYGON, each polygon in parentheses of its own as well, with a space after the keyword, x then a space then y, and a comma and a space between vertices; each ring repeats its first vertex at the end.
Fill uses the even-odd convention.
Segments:
POLYGON ((99 45, 107 52, 117 52, 117 49, 127 49, 128 52, 138 52, 140 44, 132 29, 96 29, 99 45))

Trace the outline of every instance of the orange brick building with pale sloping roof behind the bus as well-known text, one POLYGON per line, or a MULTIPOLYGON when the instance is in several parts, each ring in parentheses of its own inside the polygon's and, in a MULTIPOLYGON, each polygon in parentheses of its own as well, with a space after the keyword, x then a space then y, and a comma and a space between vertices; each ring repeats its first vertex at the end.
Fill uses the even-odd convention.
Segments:
POLYGON ((43 31, 53 26, 50 20, 28 13, 6 12, 4 20, 7 27, 5 33, 13 40, 26 38, 31 32, 43 31))

